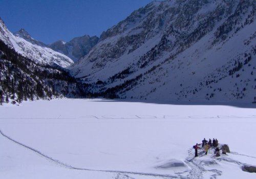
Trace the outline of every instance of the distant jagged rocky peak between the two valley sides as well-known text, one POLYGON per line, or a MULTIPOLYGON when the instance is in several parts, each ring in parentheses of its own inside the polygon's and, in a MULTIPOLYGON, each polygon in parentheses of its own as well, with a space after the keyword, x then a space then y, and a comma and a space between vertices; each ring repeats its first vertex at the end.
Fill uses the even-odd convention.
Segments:
POLYGON ((99 38, 96 36, 90 37, 89 35, 84 35, 82 37, 73 38, 69 42, 62 40, 56 41, 49 45, 49 47, 57 52, 69 56, 73 61, 77 61, 97 44, 99 38))

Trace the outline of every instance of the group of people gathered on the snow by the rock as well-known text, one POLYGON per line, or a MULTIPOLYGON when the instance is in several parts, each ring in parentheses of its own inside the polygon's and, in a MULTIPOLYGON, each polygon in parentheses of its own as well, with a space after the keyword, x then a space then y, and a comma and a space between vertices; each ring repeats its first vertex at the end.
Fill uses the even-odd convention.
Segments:
MULTIPOLYGON (((209 141, 207 141, 204 138, 202 140, 202 148, 204 149, 206 155, 207 155, 207 152, 210 149, 210 147, 215 147, 215 155, 220 156, 220 149, 219 149, 218 145, 219 145, 219 141, 217 139, 213 139, 212 141, 211 141, 211 139, 209 139, 209 141)), ((195 157, 197 157, 198 149, 200 149, 200 147, 198 146, 198 144, 196 144, 195 146, 193 146, 193 148, 195 149, 195 157)))

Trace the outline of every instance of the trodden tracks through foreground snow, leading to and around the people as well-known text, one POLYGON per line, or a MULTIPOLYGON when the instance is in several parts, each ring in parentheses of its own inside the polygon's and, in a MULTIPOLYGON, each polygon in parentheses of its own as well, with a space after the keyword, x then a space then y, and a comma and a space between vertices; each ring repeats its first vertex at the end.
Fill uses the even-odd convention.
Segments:
MULTIPOLYGON (((25 147, 33 152, 35 152, 36 154, 38 154, 39 156, 45 158, 46 160, 48 160, 49 162, 55 163, 56 165, 59 165, 61 167, 65 167, 68 169, 73 169, 73 170, 84 170, 84 171, 99 171, 99 172, 110 172, 110 173, 115 173, 115 176, 113 178, 115 179, 135 179, 135 177, 132 177, 133 175, 142 175, 142 176, 146 176, 148 177, 154 177, 154 178, 181 178, 181 179, 185 179, 185 178, 204 178, 204 173, 206 172, 211 172, 212 174, 210 175, 210 179, 215 179, 218 176, 220 176, 222 174, 222 171, 217 170, 217 169, 205 169, 204 165, 207 166, 207 164, 202 164, 201 160, 197 160, 198 158, 203 156, 204 151, 199 151, 199 157, 198 158, 194 158, 194 149, 191 148, 188 150, 188 156, 185 159, 185 163, 189 166, 190 169, 185 170, 184 172, 176 172, 176 175, 169 175, 169 174, 158 174, 158 173, 144 173, 144 172, 132 172, 132 171, 118 171, 118 170, 95 170, 95 169, 87 169, 87 168, 78 168, 78 167, 73 167, 71 165, 68 165, 66 163, 63 163, 59 160, 53 159, 50 156, 40 152, 39 150, 36 150, 32 147, 29 147, 25 144, 22 144, 12 138, 10 138, 9 136, 5 135, 5 133, 0 129, 0 133, 3 137, 7 138, 8 140, 14 142, 15 144, 18 144, 19 146, 25 147)), ((210 152, 210 151, 209 151, 210 152)), ((211 152, 213 152, 211 150, 211 152)), ((237 152, 231 152, 232 154, 235 155, 242 155, 242 156, 247 156, 249 158, 254 158, 256 159, 256 157, 254 156, 249 156, 249 155, 245 155, 245 154, 240 154, 237 152)), ((210 154, 210 153, 209 153, 210 154)), ((212 157, 213 158, 213 157, 212 157)), ((214 164, 217 161, 226 161, 226 162, 230 162, 230 163, 234 163, 240 166, 245 165, 244 163, 241 163, 239 161, 230 159, 230 158, 218 158, 216 159, 216 161, 214 161, 214 164)), ((210 165, 210 164, 208 164, 210 165)))

